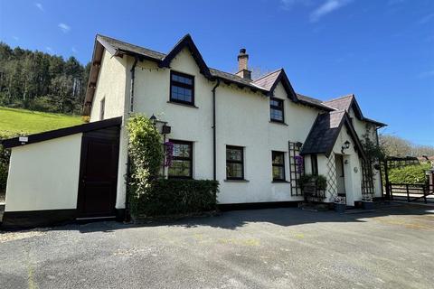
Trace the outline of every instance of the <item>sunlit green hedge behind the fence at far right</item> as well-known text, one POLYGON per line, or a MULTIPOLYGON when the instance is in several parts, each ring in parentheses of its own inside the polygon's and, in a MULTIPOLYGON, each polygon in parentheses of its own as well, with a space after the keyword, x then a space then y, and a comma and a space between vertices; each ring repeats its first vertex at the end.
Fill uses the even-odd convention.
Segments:
POLYGON ((429 163, 407 165, 389 171, 389 182, 392 183, 424 183, 425 172, 430 169, 429 163))

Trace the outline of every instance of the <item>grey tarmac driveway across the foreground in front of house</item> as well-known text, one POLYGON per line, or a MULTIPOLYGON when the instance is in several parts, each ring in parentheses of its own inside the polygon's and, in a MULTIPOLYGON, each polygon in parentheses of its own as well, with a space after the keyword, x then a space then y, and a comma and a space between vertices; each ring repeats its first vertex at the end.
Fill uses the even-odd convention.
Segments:
POLYGON ((0 235, 1 288, 432 288, 434 207, 296 208, 0 235))

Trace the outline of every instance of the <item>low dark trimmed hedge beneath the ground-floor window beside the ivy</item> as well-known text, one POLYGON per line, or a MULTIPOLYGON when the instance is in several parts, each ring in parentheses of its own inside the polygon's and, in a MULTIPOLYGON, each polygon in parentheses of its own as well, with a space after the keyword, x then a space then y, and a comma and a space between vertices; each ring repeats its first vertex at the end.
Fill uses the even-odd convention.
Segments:
POLYGON ((130 195, 131 214, 156 217, 215 210, 218 187, 216 181, 157 179, 143 193, 130 195))

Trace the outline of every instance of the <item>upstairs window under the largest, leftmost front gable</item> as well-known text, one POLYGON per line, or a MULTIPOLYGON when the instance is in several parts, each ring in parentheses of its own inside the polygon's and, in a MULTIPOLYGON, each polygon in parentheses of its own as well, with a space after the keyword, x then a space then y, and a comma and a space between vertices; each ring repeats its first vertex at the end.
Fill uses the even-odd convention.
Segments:
POLYGON ((194 105, 194 77, 170 71, 170 101, 194 105))

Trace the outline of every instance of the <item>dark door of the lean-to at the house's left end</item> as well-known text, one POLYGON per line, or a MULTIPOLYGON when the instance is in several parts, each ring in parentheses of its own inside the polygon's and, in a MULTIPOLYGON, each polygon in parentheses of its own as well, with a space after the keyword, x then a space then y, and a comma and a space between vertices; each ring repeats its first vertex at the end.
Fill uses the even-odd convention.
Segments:
POLYGON ((80 160, 78 217, 116 215, 119 128, 83 134, 80 160))

